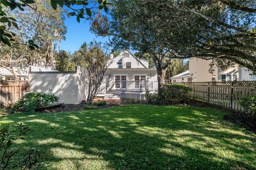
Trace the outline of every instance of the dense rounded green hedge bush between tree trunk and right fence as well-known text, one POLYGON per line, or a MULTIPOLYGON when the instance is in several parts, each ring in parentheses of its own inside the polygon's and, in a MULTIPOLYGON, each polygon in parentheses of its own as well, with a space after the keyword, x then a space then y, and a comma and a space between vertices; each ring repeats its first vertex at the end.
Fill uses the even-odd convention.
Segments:
POLYGON ((187 103, 191 98, 190 87, 179 84, 164 84, 163 96, 167 104, 187 103))

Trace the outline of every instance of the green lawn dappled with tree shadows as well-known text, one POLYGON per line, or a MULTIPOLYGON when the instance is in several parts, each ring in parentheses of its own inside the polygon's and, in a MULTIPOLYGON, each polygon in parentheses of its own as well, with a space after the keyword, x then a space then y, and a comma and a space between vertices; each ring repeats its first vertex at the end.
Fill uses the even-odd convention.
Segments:
POLYGON ((17 147, 41 150, 47 169, 255 169, 256 135, 218 109, 126 105, 17 113, 31 131, 17 147))

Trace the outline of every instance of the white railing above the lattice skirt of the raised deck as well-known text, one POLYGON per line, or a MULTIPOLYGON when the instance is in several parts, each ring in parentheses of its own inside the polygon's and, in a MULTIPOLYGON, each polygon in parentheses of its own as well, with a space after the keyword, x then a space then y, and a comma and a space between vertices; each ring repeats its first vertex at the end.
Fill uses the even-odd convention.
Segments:
POLYGON ((138 80, 138 81, 124 81, 121 80, 120 82, 121 90, 157 90, 158 83, 157 81, 144 81, 144 80, 138 80))

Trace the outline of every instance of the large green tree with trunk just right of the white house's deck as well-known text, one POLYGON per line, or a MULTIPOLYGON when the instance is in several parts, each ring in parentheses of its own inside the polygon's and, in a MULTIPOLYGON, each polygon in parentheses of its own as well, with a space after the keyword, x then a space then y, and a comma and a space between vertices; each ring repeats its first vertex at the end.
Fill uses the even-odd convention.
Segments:
MULTIPOLYGON (((181 49, 193 43, 192 32, 196 32, 190 25, 187 12, 175 8, 175 1, 167 0, 116 1, 106 33, 114 36, 111 43, 115 49, 132 48, 151 56, 157 70, 160 98, 163 98, 163 84, 172 58, 179 57, 181 49), (182 31, 189 27, 189 31, 182 31)), ((98 29, 93 31, 102 33, 98 29)))

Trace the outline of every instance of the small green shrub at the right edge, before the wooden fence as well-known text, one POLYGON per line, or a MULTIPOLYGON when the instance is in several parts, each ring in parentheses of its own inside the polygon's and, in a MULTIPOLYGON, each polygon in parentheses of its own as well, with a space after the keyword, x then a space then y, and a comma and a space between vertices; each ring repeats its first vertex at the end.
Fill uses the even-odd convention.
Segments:
POLYGON ((243 106, 246 115, 256 118, 256 94, 243 97, 240 104, 243 106))

